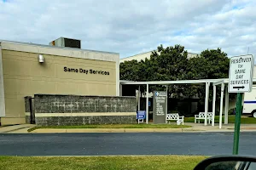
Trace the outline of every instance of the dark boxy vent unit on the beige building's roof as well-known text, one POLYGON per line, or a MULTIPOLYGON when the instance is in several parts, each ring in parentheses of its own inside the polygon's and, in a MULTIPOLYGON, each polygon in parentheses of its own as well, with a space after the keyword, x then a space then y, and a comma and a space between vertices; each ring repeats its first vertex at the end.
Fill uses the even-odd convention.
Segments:
POLYGON ((49 45, 55 47, 81 48, 81 41, 67 37, 60 37, 52 42, 49 42, 49 45))

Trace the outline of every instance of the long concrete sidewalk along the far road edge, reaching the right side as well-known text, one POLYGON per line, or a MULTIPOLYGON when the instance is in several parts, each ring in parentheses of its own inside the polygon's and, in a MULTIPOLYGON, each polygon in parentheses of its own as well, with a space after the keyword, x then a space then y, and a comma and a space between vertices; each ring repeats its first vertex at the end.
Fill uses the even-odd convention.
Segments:
MULTIPOLYGON (((207 132, 234 132, 234 124, 224 125, 221 129, 218 124, 214 127, 203 123, 184 123, 192 127, 186 128, 39 128, 31 133, 207 133, 207 132)), ((241 132, 256 132, 256 124, 241 125, 241 132)))

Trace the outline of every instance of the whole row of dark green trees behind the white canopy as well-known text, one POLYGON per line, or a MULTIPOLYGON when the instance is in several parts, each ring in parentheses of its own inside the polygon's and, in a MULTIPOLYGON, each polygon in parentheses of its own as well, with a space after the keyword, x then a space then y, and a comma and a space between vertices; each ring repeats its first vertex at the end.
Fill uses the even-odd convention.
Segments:
MULTIPOLYGON (((229 77, 230 59, 221 48, 206 49, 197 57, 188 59, 188 52, 181 45, 164 48, 160 45, 150 59, 131 60, 120 63, 119 77, 130 81, 177 81, 218 79, 229 77)), ((144 92, 145 87, 141 87, 144 92)), ((149 91, 165 90, 160 85, 150 85, 149 91)), ((220 87, 217 87, 220 92, 220 87)), ((168 96, 183 99, 184 96, 205 98, 205 84, 173 84, 168 86, 168 96)), ((220 93, 217 93, 219 99, 220 93)), ((209 100, 212 99, 210 87, 209 100)))

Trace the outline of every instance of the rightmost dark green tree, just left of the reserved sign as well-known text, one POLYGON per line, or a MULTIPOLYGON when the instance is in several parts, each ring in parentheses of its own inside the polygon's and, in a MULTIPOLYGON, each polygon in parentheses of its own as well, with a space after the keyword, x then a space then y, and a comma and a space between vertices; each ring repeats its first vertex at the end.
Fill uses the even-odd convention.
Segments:
MULTIPOLYGON (((189 59, 187 79, 218 79, 228 78, 230 69, 230 59, 227 54, 218 49, 207 49, 201 52, 197 58, 189 59)), ((190 85, 184 93, 187 96, 198 95, 201 102, 205 98, 205 86, 190 85)), ((217 87, 220 91, 220 86, 217 87)), ((212 88, 209 90, 209 100, 212 101, 212 88)), ((234 95, 231 95, 234 97, 234 95)), ((217 99, 220 98, 220 93, 217 93, 217 99)))

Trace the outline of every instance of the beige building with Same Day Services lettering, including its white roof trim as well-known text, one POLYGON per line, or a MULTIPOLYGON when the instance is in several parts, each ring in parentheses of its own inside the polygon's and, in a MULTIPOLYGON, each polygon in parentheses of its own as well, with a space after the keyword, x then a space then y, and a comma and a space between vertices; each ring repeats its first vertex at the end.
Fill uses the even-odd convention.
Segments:
POLYGON ((119 96, 119 54, 0 40, 1 124, 25 123, 34 94, 119 96))

